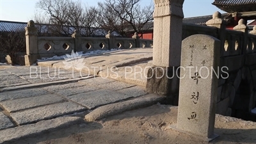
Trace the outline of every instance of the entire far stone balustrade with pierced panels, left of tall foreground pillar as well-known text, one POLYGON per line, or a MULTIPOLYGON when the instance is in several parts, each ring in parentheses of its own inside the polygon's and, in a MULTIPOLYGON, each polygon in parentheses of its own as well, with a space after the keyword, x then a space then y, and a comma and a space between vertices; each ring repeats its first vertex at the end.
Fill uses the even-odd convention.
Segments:
POLYGON ((74 51, 95 51, 110 49, 131 49, 136 47, 152 47, 153 40, 143 40, 134 33, 132 38, 117 38, 108 32, 106 38, 82 37, 77 31, 71 37, 38 36, 33 20, 26 29, 25 64, 32 65, 40 58, 60 56, 74 51))

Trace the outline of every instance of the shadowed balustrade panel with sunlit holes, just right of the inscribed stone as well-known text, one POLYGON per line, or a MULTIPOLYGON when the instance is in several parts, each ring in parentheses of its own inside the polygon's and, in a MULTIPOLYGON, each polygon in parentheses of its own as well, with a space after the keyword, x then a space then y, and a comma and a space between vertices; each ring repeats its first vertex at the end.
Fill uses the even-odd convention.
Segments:
POLYGON ((226 39, 224 49, 221 52, 223 56, 236 56, 243 52, 243 32, 226 30, 226 39))

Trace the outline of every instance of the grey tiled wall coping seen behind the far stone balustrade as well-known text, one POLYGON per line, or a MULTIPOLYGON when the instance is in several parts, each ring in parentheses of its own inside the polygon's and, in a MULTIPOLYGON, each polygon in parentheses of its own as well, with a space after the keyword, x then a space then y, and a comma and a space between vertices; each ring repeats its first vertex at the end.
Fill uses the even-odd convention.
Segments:
MULTIPOLYGON (((4 21, 0 20, 0 32, 16 32, 16 31, 25 31, 25 27, 27 26, 28 22, 12 22, 12 21, 4 21)), ((38 33, 49 33, 49 29, 56 29, 54 25, 51 24, 35 24, 35 27, 38 28, 38 33)), ((73 26, 63 26, 63 29, 67 31, 65 35, 72 35, 74 33, 75 28, 73 26)), ((80 28, 81 35, 86 35, 85 27, 80 28)), ((107 31, 104 29, 99 28, 92 28, 93 34, 95 36, 105 36, 108 34, 107 31)), ((64 34, 64 33, 63 33, 64 34)), ((115 36, 119 36, 118 33, 112 33, 115 36)))

